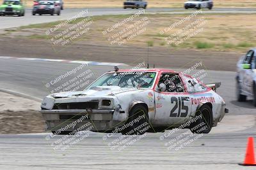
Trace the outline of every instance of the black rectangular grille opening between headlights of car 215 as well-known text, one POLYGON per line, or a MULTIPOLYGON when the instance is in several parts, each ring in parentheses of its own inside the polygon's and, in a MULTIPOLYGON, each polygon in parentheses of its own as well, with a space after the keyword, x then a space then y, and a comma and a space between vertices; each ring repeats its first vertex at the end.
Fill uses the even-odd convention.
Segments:
POLYGON ((72 109, 98 109, 99 101, 90 101, 84 103, 56 103, 53 110, 72 110, 72 109))

